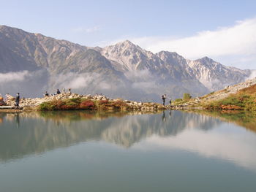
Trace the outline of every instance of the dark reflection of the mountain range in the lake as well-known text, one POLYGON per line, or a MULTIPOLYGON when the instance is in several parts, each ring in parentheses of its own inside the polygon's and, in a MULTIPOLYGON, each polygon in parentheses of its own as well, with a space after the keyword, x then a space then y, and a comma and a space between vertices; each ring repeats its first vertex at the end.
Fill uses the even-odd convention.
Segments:
POLYGON ((211 116, 180 111, 147 115, 23 112, 0 114, 0 119, 0 161, 92 140, 131 147, 148 137, 176 137, 184 130, 208 131, 223 123, 211 116))

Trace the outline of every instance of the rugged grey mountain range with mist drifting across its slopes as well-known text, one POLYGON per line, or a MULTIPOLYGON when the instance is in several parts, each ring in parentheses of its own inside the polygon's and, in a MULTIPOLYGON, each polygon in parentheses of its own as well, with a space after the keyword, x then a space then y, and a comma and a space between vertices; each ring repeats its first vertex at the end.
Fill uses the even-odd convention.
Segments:
POLYGON ((0 93, 42 96, 56 88, 103 93, 141 101, 159 101, 167 93, 200 96, 244 81, 251 70, 174 52, 151 53, 132 42, 86 47, 65 40, 0 26, 0 93))

